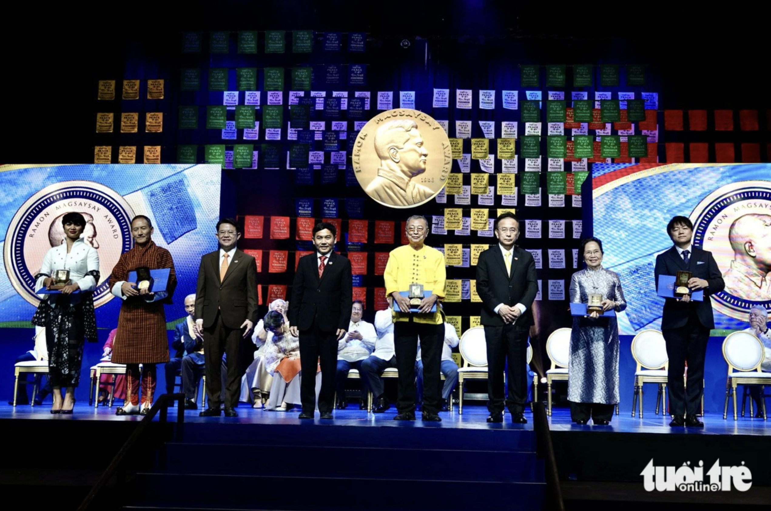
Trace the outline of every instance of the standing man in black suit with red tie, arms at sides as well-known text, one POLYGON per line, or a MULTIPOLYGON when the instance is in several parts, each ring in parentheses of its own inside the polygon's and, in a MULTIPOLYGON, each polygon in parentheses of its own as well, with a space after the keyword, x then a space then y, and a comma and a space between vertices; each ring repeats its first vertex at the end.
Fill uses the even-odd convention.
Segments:
POLYGON ((320 222, 313 228, 316 251, 301 257, 289 301, 289 331, 300 338, 302 371, 300 419, 313 419, 316 408, 316 368, 320 359, 322 388, 318 412, 332 419, 335 401, 338 340, 351 319, 351 261, 335 254, 337 229, 320 222))

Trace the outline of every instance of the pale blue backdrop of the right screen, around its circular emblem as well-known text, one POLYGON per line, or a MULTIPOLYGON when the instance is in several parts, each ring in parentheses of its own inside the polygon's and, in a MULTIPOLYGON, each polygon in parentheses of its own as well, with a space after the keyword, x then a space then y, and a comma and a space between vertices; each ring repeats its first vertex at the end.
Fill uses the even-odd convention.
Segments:
MULTIPOLYGON (((592 179, 628 166, 595 164, 592 179)), ((594 236, 602 240, 603 266, 620 275, 628 302, 625 314, 619 316, 621 335, 661 328, 664 298, 656 296, 653 268, 656 255, 672 247, 666 232, 672 217, 692 217, 705 197, 732 183, 766 180, 771 189, 768 163, 682 163, 665 167, 667 172, 619 184, 599 195, 598 190, 592 193, 594 236)), ((736 330, 747 326, 746 321, 714 312, 715 328, 736 330)))

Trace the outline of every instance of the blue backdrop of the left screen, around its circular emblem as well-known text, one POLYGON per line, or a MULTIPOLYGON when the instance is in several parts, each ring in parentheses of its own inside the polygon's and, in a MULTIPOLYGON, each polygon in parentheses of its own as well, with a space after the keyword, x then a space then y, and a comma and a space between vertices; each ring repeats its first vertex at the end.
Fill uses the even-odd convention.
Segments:
MULTIPOLYGON (((214 226, 220 209, 220 166, 94 164, 5 170, 0 172, 0 232, 7 232, 16 211, 29 197, 54 183, 70 180, 101 183, 123 197, 141 193, 145 211, 155 220, 153 240, 170 250, 177 271, 177 291, 173 304, 166 308, 167 320, 183 318, 183 299, 195 292, 200 257, 217 248, 214 226)), ((119 309, 117 298, 97 308, 97 326, 116 328, 119 309)), ((12 287, 4 266, 0 271, 0 326, 29 321, 34 312, 35 307, 12 287)))

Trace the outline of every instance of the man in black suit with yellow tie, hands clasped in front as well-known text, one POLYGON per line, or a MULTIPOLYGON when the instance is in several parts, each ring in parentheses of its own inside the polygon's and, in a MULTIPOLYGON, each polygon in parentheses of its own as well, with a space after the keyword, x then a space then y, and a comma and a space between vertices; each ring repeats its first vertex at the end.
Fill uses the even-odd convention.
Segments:
POLYGON ((503 422, 503 368, 508 360, 506 406, 512 422, 524 424, 527 335, 538 292, 535 261, 530 252, 514 244, 520 235, 514 213, 501 213, 494 232, 499 244, 483 251, 476 264, 476 292, 482 299, 480 322, 487 341, 487 422, 503 422))

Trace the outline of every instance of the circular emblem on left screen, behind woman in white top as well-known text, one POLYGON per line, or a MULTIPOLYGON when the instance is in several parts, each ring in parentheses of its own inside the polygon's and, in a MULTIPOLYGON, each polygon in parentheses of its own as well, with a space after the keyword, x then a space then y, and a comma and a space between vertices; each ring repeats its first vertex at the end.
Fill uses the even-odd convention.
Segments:
POLYGON ((5 271, 11 284, 30 304, 37 306, 35 274, 43 257, 64 241, 62 216, 81 213, 86 218, 82 237, 99 253, 99 283, 94 306, 106 304, 109 274, 120 254, 131 248, 133 210, 120 193, 92 181, 62 181, 32 195, 16 211, 5 234, 5 271))

